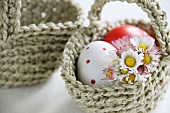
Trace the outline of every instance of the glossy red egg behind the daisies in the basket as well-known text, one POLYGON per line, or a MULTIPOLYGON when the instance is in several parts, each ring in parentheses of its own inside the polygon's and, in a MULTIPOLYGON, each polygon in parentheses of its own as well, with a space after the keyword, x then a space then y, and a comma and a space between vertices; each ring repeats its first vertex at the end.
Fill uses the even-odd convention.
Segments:
POLYGON ((104 41, 112 43, 112 41, 122 38, 123 36, 149 36, 149 34, 139 27, 132 25, 123 25, 109 31, 106 34, 104 41))

